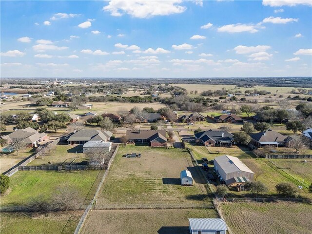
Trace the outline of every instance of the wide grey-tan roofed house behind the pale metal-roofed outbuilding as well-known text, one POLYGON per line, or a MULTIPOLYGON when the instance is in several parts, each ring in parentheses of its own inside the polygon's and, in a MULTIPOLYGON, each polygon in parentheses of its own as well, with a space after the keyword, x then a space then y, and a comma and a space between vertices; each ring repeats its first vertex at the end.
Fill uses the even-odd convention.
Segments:
POLYGON ((88 141, 108 141, 113 136, 109 131, 102 131, 96 129, 81 129, 73 134, 67 136, 69 145, 84 144, 88 141))

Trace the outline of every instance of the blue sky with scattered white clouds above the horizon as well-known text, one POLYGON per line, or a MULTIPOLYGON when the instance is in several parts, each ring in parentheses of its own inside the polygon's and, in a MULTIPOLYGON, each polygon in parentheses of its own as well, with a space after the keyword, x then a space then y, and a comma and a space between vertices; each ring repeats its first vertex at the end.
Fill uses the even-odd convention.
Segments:
POLYGON ((312 1, 1 1, 1 77, 312 76, 312 1))

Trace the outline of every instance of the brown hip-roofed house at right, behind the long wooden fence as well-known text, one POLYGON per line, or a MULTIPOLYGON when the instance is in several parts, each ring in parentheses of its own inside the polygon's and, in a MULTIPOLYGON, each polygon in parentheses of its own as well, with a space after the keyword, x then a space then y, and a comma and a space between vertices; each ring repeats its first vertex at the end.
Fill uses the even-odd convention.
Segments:
POLYGON ((284 136, 271 129, 265 132, 252 133, 250 136, 252 137, 251 143, 258 148, 268 145, 288 147, 292 141, 292 137, 284 136))

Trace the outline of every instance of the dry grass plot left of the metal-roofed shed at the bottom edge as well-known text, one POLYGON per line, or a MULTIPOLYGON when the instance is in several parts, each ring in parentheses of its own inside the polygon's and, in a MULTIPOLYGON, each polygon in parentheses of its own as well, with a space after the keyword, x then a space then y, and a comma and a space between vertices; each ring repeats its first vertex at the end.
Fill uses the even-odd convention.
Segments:
POLYGON ((188 218, 217 218, 214 209, 93 210, 82 234, 188 234, 188 218))

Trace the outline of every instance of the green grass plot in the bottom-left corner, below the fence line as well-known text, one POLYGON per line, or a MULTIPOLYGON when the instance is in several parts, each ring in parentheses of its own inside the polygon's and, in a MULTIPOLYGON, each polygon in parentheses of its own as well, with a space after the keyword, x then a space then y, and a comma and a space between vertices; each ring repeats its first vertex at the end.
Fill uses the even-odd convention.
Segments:
POLYGON ((83 211, 30 215, 1 212, 1 234, 72 234, 83 211), (65 228, 66 226, 66 228, 65 228), (65 229, 64 229, 65 228, 65 229))

